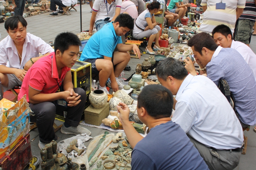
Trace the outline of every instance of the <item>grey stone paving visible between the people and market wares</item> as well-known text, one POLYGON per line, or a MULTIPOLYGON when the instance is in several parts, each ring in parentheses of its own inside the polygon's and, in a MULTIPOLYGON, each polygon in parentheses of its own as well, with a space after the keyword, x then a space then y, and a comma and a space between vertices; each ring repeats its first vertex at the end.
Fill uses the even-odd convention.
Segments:
MULTIPOLYGON (((25 18, 28 22, 27 26, 27 32, 36 35, 38 37, 41 37, 45 42, 49 42, 54 40, 55 36, 58 35, 60 32, 63 31, 70 31, 74 34, 77 34, 80 32, 80 6, 75 7, 77 12, 73 9, 70 11, 71 15, 58 15, 51 17, 48 13, 31 16, 25 18)), ((82 5, 82 30, 89 29, 90 26, 90 19, 91 19, 91 9, 90 6, 87 4, 82 5)), ((1 38, 0 41, 3 40, 8 34, 6 30, 4 29, 4 23, 0 23, 0 34, 1 38)), ((251 41, 251 48, 256 53, 256 37, 252 36, 251 41)), ((128 78, 133 72, 135 72, 135 67, 137 63, 141 63, 144 58, 148 57, 147 54, 143 54, 141 59, 135 59, 132 58, 129 62, 129 66, 131 66, 132 70, 125 71, 125 78, 128 78)), ((56 124, 60 125, 62 122, 59 120, 56 120, 56 124)), ((104 133, 105 130, 98 129, 98 128, 91 128, 86 127, 92 132, 92 137, 96 135, 100 135, 104 133)), ((29 132, 30 133, 30 140, 34 139, 33 142, 31 142, 31 149, 32 149, 32 155, 40 157, 40 150, 38 148, 38 131, 37 129, 29 132)), ((56 132, 59 139, 57 142, 69 138, 73 135, 63 135, 60 133, 60 130, 56 132)), ((236 170, 238 169, 246 169, 246 170, 254 170, 255 168, 255 162, 256 162, 256 133, 253 131, 253 127, 251 127, 251 130, 249 132, 244 132, 246 136, 248 136, 248 146, 247 146, 247 153, 246 155, 241 155, 241 159, 239 162, 239 165, 236 167, 236 170)), ((223 141, 225 142, 225 141, 223 141)), ((90 141, 86 142, 85 145, 88 146, 90 141)), ((27 168, 28 169, 28 168, 27 168)), ((41 169, 41 168, 39 168, 41 169)))

